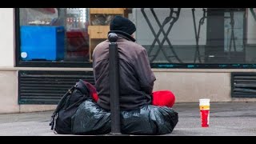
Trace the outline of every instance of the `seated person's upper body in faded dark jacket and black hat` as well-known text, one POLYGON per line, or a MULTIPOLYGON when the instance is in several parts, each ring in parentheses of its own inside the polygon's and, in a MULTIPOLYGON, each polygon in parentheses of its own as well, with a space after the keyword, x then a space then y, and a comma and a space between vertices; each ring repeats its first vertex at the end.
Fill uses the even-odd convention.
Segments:
MULTIPOLYGON (((120 108, 134 110, 152 103, 151 94, 156 78, 150 69, 146 49, 130 36, 136 30, 134 24, 126 18, 115 18, 110 24, 110 32, 118 34, 120 108)), ((108 40, 101 42, 93 54, 97 103, 106 110, 110 110, 109 44, 108 40)))

